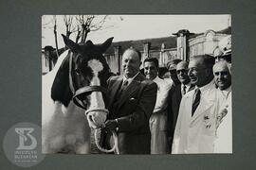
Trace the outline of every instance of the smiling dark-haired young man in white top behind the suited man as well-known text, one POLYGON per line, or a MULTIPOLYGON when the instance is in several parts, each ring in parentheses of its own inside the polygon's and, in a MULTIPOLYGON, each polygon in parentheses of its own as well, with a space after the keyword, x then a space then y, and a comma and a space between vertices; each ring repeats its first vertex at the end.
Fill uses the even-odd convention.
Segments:
POLYGON ((167 98, 171 84, 158 76, 157 59, 145 59, 143 67, 146 78, 157 84, 155 109, 150 117, 151 154, 170 154, 167 133, 167 98))

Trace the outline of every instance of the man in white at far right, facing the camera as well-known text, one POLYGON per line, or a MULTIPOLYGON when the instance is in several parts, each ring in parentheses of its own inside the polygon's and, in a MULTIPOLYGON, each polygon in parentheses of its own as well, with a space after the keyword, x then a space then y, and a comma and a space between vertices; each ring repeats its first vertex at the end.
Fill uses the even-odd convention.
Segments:
POLYGON ((217 89, 216 139, 214 153, 232 153, 232 92, 230 63, 219 60, 213 66, 217 89))

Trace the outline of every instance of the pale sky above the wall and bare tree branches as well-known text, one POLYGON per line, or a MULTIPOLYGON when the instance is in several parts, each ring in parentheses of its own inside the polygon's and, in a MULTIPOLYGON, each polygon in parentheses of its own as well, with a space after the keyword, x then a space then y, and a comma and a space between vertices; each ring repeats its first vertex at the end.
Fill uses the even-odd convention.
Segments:
MULTIPOLYGON (((102 15, 98 18, 101 19, 102 15)), ((231 16, 223 15, 108 15, 104 28, 88 34, 87 40, 94 43, 104 42, 114 37, 113 42, 143 40, 173 36, 179 29, 189 29, 201 33, 209 29, 222 30, 230 26, 231 16)), ((52 15, 42 17, 42 47, 55 47, 52 15)), ((57 34, 59 47, 64 46, 61 34, 65 34, 63 16, 57 15, 57 34)), ((70 39, 75 41, 75 34, 70 39)))

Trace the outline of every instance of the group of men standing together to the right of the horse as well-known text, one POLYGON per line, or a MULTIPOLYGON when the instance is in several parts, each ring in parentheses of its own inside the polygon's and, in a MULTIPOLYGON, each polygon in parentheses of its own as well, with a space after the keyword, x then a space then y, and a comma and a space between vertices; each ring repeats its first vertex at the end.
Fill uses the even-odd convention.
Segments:
MULTIPOLYGON (((157 59, 140 60, 140 52, 128 48, 122 55, 123 75, 107 82, 105 125, 117 131, 119 153, 231 153, 230 54, 170 60, 173 83, 158 75, 157 59)), ((108 132, 102 141, 113 144, 108 132)))

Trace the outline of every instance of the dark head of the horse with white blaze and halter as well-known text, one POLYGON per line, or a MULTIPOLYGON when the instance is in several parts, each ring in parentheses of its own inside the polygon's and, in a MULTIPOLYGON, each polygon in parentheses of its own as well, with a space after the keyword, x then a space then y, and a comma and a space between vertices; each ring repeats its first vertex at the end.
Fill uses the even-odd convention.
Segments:
POLYGON ((70 102, 86 110, 90 127, 101 126, 107 110, 104 106, 104 88, 111 76, 110 68, 102 54, 113 38, 102 44, 91 41, 76 43, 63 35, 69 48, 51 87, 51 98, 68 107, 70 102), (73 99, 73 100, 72 100, 73 99))

